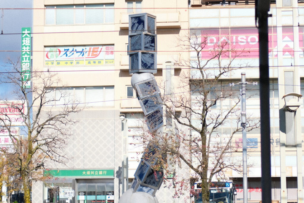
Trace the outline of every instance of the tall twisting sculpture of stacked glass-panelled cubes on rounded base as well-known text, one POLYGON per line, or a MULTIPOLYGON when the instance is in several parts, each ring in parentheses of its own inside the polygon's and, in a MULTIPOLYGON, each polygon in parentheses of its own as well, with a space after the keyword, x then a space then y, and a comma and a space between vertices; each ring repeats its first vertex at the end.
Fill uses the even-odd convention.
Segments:
MULTIPOLYGON (((156 53, 156 16, 148 13, 129 15, 129 74, 133 74, 131 84, 151 133, 164 128, 161 92, 153 75, 157 72, 156 53)), ((119 203, 158 202, 155 193, 161 187, 164 172, 162 168, 157 171, 151 168, 157 163, 157 159, 153 158, 156 151, 157 146, 152 144, 145 149, 132 185, 120 197, 119 203)))

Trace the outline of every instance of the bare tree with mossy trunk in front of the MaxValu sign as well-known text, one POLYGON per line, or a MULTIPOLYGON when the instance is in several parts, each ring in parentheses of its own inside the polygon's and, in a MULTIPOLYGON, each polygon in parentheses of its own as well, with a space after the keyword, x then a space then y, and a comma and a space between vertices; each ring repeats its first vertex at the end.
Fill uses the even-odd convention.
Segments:
POLYGON ((11 161, 22 180, 24 201, 30 203, 31 182, 43 180, 43 169, 50 163, 67 163, 63 149, 72 135, 69 127, 75 123, 68 116, 81 108, 66 91, 56 90, 62 87, 56 74, 31 72, 32 86, 26 89, 29 79, 22 79, 20 61, 9 60, 6 67, 1 82, 13 86, 14 100, 1 98, 0 124, 12 142, 12 149, 4 153, 15 156, 11 161), (24 140, 12 132, 14 125, 21 126, 24 140))

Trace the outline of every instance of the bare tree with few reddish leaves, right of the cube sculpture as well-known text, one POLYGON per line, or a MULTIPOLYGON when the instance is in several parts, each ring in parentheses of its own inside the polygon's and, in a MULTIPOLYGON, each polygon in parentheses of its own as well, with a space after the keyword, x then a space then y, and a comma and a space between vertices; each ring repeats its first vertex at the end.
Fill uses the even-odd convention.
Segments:
MULTIPOLYGON (((235 62, 248 51, 233 47, 229 37, 218 41, 210 48, 208 35, 192 33, 179 39, 178 46, 192 54, 190 58, 176 61, 187 69, 175 86, 177 92, 162 96, 167 120, 172 119, 173 128, 170 133, 164 130, 143 135, 144 142, 154 145, 157 150, 157 153, 145 153, 157 158, 154 169, 170 171, 172 165, 186 164, 192 170, 192 177, 202 180, 204 203, 209 202, 212 178, 225 176, 227 169, 240 172, 242 163, 232 159, 232 154, 237 152, 237 147, 232 145, 233 135, 242 131, 238 105, 240 91, 225 81, 234 70, 248 66, 235 62), (229 131, 222 132, 223 126, 228 126, 229 131), (161 159, 162 154, 168 155, 166 160, 161 159)), ((247 131, 255 128, 259 128, 259 119, 247 119, 247 131)), ((189 182, 189 178, 176 180, 174 195, 182 194, 181 186, 189 182)))

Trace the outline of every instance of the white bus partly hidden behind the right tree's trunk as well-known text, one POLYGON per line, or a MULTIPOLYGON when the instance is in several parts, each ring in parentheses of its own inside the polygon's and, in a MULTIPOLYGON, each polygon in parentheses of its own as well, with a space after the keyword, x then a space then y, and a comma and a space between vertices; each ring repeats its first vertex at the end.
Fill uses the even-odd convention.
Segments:
MULTIPOLYGON (((198 196, 194 196, 195 203, 202 203, 202 181, 194 184, 194 190, 198 196)), ((209 201, 210 203, 235 203, 237 190, 232 180, 220 180, 210 183, 209 201)))

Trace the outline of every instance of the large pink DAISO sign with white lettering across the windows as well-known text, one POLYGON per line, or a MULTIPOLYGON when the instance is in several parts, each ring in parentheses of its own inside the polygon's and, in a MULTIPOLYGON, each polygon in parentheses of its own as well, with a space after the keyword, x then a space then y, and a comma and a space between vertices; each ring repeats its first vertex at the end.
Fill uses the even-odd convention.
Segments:
MULTIPOLYGON (((282 57, 292 58, 296 53, 303 54, 303 28, 299 27, 299 50, 294 50, 293 27, 282 27, 282 57)), ((259 58, 259 35, 255 27, 222 28, 200 30, 202 59, 210 59, 219 50, 221 58, 259 58)), ((269 58, 278 58, 278 40, 275 28, 268 30, 269 58)))

